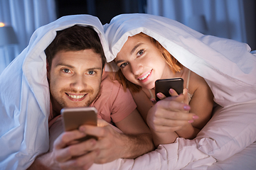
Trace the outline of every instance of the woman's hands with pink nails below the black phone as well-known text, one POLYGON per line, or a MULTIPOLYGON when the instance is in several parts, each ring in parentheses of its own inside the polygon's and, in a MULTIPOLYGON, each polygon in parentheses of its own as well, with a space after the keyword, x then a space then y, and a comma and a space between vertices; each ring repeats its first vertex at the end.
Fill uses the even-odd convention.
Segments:
POLYGON ((174 132, 192 123, 198 117, 194 113, 188 113, 191 108, 186 104, 185 98, 186 95, 181 94, 158 101, 147 115, 149 128, 155 132, 174 132))

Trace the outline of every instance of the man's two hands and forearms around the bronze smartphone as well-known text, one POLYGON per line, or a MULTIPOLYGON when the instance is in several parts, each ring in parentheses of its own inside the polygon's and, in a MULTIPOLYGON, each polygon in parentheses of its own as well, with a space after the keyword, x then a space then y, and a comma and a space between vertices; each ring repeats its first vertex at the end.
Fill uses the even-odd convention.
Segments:
POLYGON ((125 135, 105 120, 98 119, 97 127, 82 125, 79 130, 61 133, 53 143, 53 150, 38 157, 30 169, 89 169, 93 163, 138 157, 138 153, 144 154, 142 146, 152 146, 150 143, 150 133, 125 135), (98 140, 76 141, 85 135, 94 135, 98 140), (134 150, 137 150, 136 155, 134 150))

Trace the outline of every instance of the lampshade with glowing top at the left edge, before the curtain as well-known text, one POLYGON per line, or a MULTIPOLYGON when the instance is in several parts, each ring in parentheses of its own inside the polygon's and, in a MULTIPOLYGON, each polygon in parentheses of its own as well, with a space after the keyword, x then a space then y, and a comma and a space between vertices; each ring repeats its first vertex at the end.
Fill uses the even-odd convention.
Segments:
POLYGON ((5 26, 4 23, 0 23, 0 46, 16 43, 18 43, 18 40, 14 33, 14 28, 5 26))

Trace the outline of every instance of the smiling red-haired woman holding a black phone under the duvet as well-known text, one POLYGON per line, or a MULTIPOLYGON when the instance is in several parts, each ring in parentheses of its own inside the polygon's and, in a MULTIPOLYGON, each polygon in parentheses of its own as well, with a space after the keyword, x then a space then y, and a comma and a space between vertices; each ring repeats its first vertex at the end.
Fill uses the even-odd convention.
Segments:
MULTIPOLYGON (((151 128, 156 146, 174 142, 177 135, 193 139, 210 120, 213 94, 206 81, 184 67, 154 38, 144 33, 129 36, 114 62, 119 67, 117 79, 132 91, 139 112, 151 128), (189 110, 188 106, 185 111, 172 110, 169 100, 174 98, 166 98, 154 105, 155 81, 177 77, 184 80, 184 90, 176 102, 189 103, 191 114, 181 114, 189 110)), ((177 96, 174 89, 169 92, 171 96, 177 96)), ((161 93, 157 96, 165 97, 161 93)))

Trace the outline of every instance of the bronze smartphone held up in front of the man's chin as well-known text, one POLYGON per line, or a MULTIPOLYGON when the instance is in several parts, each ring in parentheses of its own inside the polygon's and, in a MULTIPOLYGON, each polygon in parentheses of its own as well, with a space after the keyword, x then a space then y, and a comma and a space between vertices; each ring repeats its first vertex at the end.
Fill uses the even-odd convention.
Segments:
MULTIPOLYGON (((95 125, 97 126, 97 109, 95 107, 82 108, 63 108, 60 111, 63 116, 63 125, 65 131, 77 130, 80 125, 95 125)), ((79 139, 79 142, 97 137, 86 135, 79 139)))

